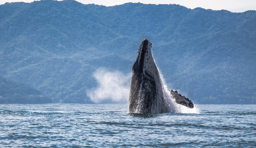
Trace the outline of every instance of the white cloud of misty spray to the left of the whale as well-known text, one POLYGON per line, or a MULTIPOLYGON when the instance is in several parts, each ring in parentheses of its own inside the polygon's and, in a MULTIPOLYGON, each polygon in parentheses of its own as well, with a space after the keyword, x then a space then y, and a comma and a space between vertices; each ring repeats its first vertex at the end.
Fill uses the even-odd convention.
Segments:
POLYGON ((87 96, 95 103, 126 103, 128 102, 130 79, 132 73, 123 74, 118 70, 108 71, 101 67, 93 77, 98 87, 87 91, 87 96))

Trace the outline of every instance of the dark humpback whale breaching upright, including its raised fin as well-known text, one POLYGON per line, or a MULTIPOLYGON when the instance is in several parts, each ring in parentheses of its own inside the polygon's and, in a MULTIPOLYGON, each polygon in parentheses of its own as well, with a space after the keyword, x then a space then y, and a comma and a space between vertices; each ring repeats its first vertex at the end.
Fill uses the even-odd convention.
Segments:
POLYGON ((151 53, 151 43, 144 39, 133 64, 130 85, 129 113, 168 113, 170 99, 193 108, 193 102, 177 90, 167 90, 151 53))

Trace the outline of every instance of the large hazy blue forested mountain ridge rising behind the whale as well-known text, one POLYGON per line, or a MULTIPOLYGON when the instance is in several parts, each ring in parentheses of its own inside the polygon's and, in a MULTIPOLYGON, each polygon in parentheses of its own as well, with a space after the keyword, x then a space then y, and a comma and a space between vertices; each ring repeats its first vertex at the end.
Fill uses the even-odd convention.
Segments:
POLYGON ((97 84, 93 72, 131 72, 147 38, 171 89, 199 104, 256 104, 255 24, 256 11, 6 3, 0 5, 0 76, 54 102, 92 103, 86 91, 97 84))

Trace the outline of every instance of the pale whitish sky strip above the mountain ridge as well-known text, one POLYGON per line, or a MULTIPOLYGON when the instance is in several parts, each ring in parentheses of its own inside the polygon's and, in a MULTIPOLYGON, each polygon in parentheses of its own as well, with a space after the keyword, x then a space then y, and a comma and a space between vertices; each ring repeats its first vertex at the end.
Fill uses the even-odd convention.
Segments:
MULTIPOLYGON (((33 2, 34 0, 0 0, 0 5, 5 2, 33 2)), ((83 4, 98 4, 105 6, 121 5, 126 2, 141 2, 144 4, 179 4, 191 9, 202 7, 205 9, 231 12, 244 12, 256 10, 256 0, 77 0, 83 4)))

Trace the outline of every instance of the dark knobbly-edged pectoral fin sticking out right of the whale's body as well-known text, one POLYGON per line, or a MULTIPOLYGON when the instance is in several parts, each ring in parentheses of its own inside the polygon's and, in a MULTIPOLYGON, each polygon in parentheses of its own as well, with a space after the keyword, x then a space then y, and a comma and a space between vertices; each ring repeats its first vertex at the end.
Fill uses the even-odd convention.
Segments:
POLYGON ((175 90, 175 91, 170 90, 170 93, 171 93, 172 97, 175 99, 176 103, 182 104, 182 105, 187 106, 191 109, 194 107, 193 102, 189 98, 179 94, 177 90, 175 90))

